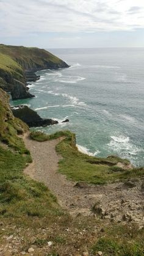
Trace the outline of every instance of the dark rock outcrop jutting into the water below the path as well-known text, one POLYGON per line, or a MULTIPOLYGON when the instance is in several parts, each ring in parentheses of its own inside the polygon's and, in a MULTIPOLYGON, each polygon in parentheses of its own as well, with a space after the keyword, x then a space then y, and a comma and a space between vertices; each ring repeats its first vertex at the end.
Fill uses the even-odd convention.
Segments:
POLYGON ((32 110, 28 106, 15 106, 12 107, 13 115, 23 122, 27 123, 29 127, 40 127, 47 125, 55 125, 58 122, 52 119, 42 119, 36 111, 32 110))

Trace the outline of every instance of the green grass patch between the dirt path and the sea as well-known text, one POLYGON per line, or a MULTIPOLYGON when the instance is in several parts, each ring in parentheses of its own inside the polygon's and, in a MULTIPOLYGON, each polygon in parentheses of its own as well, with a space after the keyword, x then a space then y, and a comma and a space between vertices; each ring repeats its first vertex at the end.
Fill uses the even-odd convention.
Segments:
POLYGON ((65 137, 56 146, 57 152, 62 155, 59 172, 67 175, 71 180, 102 185, 144 175, 143 167, 124 170, 117 166, 117 163, 123 163, 126 167, 129 164, 128 159, 121 159, 118 156, 96 158, 79 152, 75 134, 70 131, 60 131, 50 135, 40 131, 31 132, 31 138, 40 142, 57 137, 65 137))

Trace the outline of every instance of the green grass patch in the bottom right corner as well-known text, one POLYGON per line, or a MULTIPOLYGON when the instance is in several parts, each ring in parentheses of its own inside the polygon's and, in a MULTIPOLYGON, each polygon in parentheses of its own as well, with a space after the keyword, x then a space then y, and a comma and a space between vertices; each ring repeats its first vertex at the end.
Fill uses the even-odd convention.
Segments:
POLYGON ((105 256, 143 256, 144 229, 128 225, 111 225, 106 228, 105 236, 99 238, 92 246, 95 255, 102 251, 105 256))

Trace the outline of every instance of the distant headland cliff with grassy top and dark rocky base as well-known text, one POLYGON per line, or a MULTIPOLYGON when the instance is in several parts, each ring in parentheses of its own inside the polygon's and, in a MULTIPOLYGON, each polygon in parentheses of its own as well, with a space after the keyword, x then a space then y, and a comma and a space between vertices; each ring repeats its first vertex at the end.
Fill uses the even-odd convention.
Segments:
POLYGON ((39 79, 34 72, 69 67, 45 49, 0 45, 0 88, 13 100, 31 98, 26 81, 39 79))

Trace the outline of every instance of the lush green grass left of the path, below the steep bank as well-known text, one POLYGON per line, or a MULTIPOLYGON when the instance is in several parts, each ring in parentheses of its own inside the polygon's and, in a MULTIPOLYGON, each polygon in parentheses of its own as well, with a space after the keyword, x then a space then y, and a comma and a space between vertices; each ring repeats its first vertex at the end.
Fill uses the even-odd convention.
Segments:
POLYGON ((6 217, 61 214, 48 188, 23 175, 31 158, 0 147, 0 215, 6 217))

